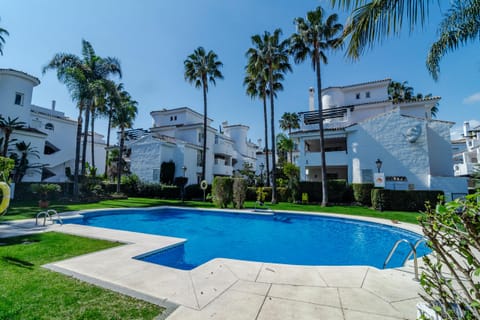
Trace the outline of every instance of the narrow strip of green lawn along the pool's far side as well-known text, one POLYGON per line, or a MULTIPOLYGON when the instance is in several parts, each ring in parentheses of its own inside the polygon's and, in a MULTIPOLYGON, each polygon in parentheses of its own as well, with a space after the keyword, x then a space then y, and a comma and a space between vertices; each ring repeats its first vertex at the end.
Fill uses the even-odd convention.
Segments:
MULTIPOLYGON (((184 206, 184 207, 198 207, 198 208, 214 208, 214 205, 210 202, 201 201, 185 201, 178 200, 161 200, 150 198, 129 198, 120 200, 106 200, 95 203, 51 203, 50 208, 55 209, 58 212, 75 211, 83 209, 100 209, 100 208, 132 208, 132 207, 152 207, 152 206, 184 206)), ((418 212, 402 212, 402 211, 384 211, 379 212, 366 207, 361 206, 330 206, 320 207, 314 204, 293 204, 287 202, 281 202, 279 204, 271 205, 266 203, 266 206, 273 210, 287 210, 287 211, 307 211, 307 212, 326 212, 326 213, 339 213, 346 215, 365 216, 384 218, 389 220, 398 220, 409 223, 417 223, 417 217, 420 215, 418 212)), ((246 208, 254 208, 255 202, 247 201, 245 203, 246 208)), ((5 220, 16 220, 25 218, 34 218, 39 212, 39 208, 36 202, 18 202, 12 203, 8 209, 8 213, 0 217, 0 222, 5 220)))

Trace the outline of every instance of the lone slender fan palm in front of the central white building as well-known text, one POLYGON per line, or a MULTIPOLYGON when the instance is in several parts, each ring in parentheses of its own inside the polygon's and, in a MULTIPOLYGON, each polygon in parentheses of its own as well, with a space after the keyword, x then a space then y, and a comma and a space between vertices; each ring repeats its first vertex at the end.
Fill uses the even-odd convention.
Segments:
POLYGON ((205 180, 205 165, 207 160, 207 92, 208 83, 216 85, 215 79, 223 79, 220 68, 223 64, 215 52, 205 52, 198 47, 184 61, 185 80, 203 89, 203 149, 202 149, 202 180, 205 180))

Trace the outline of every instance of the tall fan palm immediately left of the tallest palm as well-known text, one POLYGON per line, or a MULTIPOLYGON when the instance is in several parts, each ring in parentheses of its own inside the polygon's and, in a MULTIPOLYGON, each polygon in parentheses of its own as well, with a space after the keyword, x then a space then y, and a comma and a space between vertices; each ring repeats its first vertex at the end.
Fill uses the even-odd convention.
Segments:
MULTIPOLYGON (((272 203, 277 202, 277 182, 275 178, 275 93, 280 90, 275 83, 283 80, 283 74, 291 71, 288 55, 288 40, 280 41, 281 29, 276 29, 272 34, 268 31, 263 36, 252 36, 253 48, 248 49, 248 68, 250 73, 265 75, 270 98, 270 125, 272 140, 272 203)), ((268 155, 267 155, 268 156, 268 155)))

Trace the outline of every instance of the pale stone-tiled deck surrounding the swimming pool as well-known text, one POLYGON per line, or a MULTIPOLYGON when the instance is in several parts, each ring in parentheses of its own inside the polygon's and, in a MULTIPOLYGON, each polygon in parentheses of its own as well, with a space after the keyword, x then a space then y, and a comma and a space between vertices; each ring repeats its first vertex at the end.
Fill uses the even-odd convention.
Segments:
MULTIPOLYGON (((421 232, 415 225, 359 219, 421 232)), ((183 239, 74 224, 35 227, 31 220, 0 225, 1 237, 43 231, 126 243, 45 267, 166 306, 168 320, 415 319, 421 301, 411 262, 379 270, 214 259, 183 271, 132 259, 183 239)))

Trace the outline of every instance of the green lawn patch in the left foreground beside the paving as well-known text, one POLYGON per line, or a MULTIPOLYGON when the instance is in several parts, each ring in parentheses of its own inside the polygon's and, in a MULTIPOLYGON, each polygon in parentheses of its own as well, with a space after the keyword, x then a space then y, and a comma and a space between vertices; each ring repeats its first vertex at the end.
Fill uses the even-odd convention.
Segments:
POLYGON ((0 319, 153 319, 159 306, 41 265, 119 245, 55 232, 0 239, 0 319))

